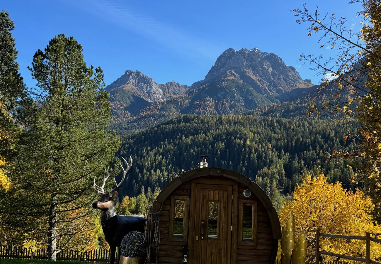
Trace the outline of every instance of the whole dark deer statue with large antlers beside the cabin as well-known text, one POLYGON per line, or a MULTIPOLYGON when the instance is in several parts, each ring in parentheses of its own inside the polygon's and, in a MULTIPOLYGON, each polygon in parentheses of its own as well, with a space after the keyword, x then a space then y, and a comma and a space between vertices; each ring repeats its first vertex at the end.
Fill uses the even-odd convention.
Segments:
POLYGON ((115 187, 112 188, 109 192, 104 192, 104 185, 106 184, 106 180, 110 177, 114 171, 109 172, 109 167, 104 170, 103 184, 101 187, 96 185, 95 177, 94 177, 94 189, 98 192, 98 195, 101 198, 93 203, 91 206, 94 209, 101 210, 101 224, 104 233, 104 237, 106 238, 107 243, 110 245, 110 263, 114 264, 115 260, 115 249, 118 247, 118 259, 117 264, 119 264, 120 259, 120 243, 122 242, 123 237, 131 231, 139 231, 144 232, 144 225, 146 223, 146 219, 143 217, 135 217, 135 216, 118 216, 115 213, 114 202, 112 200, 118 195, 117 188, 122 184, 126 177, 127 171, 132 166, 132 158, 130 155, 131 164, 122 158, 124 163, 126 164, 126 169, 123 168, 122 163, 120 163, 120 167, 122 167, 123 177, 122 180, 117 184, 115 177, 115 187), (106 175, 107 174, 107 175, 106 175))

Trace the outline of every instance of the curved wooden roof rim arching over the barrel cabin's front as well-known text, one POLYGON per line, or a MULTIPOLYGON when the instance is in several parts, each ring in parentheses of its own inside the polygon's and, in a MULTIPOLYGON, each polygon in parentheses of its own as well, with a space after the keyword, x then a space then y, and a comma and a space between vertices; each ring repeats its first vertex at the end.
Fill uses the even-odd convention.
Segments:
POLYGON ((158 211, 161 207, 160 202, 168 198, 168 196, 174 190, 176 190, 176 188, 178 188, 183 182, 187 182, 188 180, 192 180, 192 179, 203 177, 203 176, 209 176, 209 175, 226 177, 228 179, 235 180, 247 186, 248 189, 258 197, 259 201, 266 208, 267 214, 269 215, 270 222, 271 222, 273 238, 274 239, 282 238, 282 231, 280 228, 279 217, 278 217, 277 211, 272 206, 272 202, 269 196, 267 196, 266 193, 262 190, 262 188, 259 187, 255 182, 252 182, 248 177, 246 177, 243 174, 240 174, 239 172, 232 171, 229 169, 207 167, 207 168, 193 169, 191 171, 184 172, 179 177, 176 177, 174 180, 172 180, 168 185, 166 185, 165 188, 163 188, 163 190, 157 196, 156 201, 152 205, 153 207, 152 209, 154 209, 154 211, 158 211))

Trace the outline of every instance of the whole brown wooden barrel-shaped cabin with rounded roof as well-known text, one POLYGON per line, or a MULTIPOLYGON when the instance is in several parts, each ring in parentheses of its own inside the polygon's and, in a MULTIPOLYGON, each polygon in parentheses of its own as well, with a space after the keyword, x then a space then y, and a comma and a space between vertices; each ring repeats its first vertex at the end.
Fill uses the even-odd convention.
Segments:
POLYGON ((185 172, 160 192, 150 212, 151 230, 156 217, 160 239, 148 263, 275 262, 281 238, 277 212, 243 174, 216 167, 185 172))

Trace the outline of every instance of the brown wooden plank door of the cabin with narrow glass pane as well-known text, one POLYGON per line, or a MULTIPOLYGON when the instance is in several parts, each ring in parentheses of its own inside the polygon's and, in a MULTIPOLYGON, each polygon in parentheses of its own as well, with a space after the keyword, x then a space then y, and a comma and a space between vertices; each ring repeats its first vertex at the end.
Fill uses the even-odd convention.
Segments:
POLYGON ((232 185, 197 184, 195 201, 190 264, 230 264, 232 185))

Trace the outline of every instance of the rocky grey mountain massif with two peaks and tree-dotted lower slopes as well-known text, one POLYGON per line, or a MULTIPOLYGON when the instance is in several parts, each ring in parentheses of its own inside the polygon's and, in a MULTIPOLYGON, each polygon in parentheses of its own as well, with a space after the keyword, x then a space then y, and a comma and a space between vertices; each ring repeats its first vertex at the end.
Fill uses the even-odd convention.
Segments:
POLYGON ((181 114, 243 114, 271 103, 294 100, 311 92, 314 86, 311 80, 301 79, 296 69, 287 66, 279 56, 257 48, 227 49, 204 80, 186 87, 190 89, 187 93, 182 85, 174 84, 167 89, 171 91, 168 94, 176 91, 178 96, 162 100, 162 86, 141 72, 126 71, 106 88, 115 117, 113 128, 123 134, 181 114), (141 77, 137 81, 133 76, 141 77), (136 89, 139 85, 143 88, 136 89))

